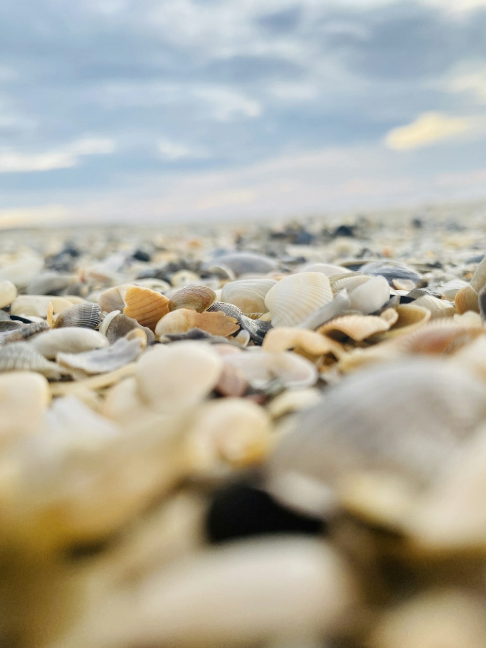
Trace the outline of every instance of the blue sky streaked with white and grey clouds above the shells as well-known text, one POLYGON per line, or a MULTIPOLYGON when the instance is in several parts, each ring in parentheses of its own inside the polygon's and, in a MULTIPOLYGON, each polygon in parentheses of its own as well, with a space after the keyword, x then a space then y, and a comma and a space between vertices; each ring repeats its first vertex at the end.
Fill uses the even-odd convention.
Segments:
POLYGON ((486 198, 486 0, 2 0, 0 227, 486 198))

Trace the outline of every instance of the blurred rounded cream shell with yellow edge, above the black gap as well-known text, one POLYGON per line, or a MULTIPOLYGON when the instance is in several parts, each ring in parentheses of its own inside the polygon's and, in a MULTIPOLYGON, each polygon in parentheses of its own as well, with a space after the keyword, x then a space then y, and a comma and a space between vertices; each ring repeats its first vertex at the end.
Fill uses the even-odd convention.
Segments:
POLYGON ((211 472, 221 460, 246 467, 268 456, 270 418, 255 403, 231 397, 210 400, 199 406, 194 419, 188 443, 196 470, 211 472))

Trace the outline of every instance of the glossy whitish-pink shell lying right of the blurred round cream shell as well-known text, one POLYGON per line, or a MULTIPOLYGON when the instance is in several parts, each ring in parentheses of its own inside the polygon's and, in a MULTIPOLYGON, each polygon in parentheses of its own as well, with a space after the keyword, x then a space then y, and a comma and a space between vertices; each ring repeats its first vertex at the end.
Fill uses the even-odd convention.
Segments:
POLYGON ((287 389, 311 387, 318 380, 316 367, 292 351, 259 351, 229 355, 225 362, 240 369, 253 389, 267 389, 272 383, 287 389))

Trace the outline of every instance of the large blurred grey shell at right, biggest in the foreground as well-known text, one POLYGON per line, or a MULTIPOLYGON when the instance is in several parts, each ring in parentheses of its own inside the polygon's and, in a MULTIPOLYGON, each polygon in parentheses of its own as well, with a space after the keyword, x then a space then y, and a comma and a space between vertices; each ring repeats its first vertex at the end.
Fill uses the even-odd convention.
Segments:
POLYGON ((403 360, 347 376, 295 421, 270 457, 270 490, 323 515, 345 484, 360 497, 369 476, 375 480, 366 484, 375 487, 363 489, 359 511, 354 498, 353 512, 395 520, 398 509, 385 511, 383 499, 371 494, 379 494, 380 484, 382 492, 385 485, 396 492, 429 485, 483 419, 484 395, 483 384, 445 360, 403 360))

